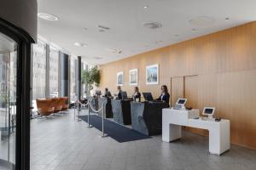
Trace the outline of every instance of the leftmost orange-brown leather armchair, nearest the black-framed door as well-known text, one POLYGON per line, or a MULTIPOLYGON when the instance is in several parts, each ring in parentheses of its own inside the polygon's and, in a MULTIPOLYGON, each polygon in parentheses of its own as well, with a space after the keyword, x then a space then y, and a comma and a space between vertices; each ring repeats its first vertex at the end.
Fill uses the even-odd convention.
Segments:
POLYGON ((41 116, 49 116, 54 113, 55 107, 52 105, 52 99, 36 99, 38 113, 41 116))

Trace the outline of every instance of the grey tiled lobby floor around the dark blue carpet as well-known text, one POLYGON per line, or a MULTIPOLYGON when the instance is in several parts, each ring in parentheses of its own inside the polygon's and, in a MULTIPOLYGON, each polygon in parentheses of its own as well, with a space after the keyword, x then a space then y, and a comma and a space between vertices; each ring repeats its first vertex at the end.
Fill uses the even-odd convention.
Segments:
POLYGON ((207 138, 188 132, 174 143, 162 142, 161 136, 118 143, 99 133, 86 122, 75 122, 73 111, 32 120, 32 170, 256 169, 256 150, 232 145, 224 155, 212 156, 207 138))

